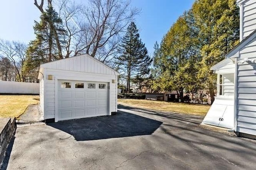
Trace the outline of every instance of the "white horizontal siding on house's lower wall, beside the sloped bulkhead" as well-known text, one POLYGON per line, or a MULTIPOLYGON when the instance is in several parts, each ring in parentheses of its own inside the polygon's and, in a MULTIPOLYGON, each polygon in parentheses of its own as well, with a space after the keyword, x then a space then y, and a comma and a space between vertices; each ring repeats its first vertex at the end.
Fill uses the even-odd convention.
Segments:
MULTIPOLYGON (((256 38, 239 51, 239 59, 244 58, 256 59, 256 38)), ((237 65, 237 131, 256 135, 255 63, 237 65)))

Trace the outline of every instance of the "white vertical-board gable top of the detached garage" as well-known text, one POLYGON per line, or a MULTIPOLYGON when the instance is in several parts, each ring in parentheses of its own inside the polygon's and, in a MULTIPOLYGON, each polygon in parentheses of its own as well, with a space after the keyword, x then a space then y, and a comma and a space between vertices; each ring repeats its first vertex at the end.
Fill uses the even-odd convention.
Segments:
POLYGON ((44 63, 41 68, 119 75, 119 72, 88 54, 44 63))

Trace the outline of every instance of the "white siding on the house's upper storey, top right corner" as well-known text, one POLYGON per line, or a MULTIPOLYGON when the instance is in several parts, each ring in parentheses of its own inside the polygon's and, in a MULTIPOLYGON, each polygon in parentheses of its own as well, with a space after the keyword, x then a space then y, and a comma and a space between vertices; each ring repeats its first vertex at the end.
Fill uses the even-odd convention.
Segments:
POLYGON ((240 41, 246 38, 256 27, 256 0, 246 0, 240 6, 240 41))

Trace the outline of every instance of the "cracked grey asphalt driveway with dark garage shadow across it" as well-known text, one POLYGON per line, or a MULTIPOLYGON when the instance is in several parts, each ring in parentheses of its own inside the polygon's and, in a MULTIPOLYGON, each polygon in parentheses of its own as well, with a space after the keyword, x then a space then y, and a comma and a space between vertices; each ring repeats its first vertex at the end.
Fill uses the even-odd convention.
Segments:
POLYGON ((203 117, 118 106, 118 114, 18 127, 7 169, 255 169, 256 142, 203 117))

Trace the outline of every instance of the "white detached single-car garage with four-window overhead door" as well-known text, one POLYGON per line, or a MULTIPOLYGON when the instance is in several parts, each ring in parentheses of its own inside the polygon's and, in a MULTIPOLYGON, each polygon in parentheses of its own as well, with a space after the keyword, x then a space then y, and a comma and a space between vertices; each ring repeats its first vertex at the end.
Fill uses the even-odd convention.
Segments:
POLYGON ((38 79, 44 119, 57 122, 116 113, 118 75, 90 55, 41 64, 38 79))

